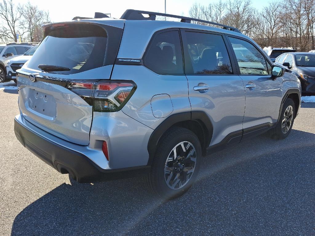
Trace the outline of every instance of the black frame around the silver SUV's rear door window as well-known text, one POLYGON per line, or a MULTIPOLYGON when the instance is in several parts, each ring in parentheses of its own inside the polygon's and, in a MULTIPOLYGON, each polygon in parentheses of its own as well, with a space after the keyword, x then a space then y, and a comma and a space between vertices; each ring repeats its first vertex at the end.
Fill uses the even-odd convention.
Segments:
POLYGON ((235 76, 237 75, 237 68, 235 65, 235 61, 233 58, 233 54, 231 52, 231 48, 228 46, 229 42, 226 40, 225 34, 219 33, 219 32, 214 32, 214 31, 205 31, 205 30, 195 30, 195 29, 186 29, 186 28, 181 28, 180 29, 180 34, 182 38, 182 49, 183 49, 183 59, 186 63, 184 63, 184 72, 186 76, 235 76), (192 69, 192 63, 191 59, 188 53, 188 49, 184 47, 184 45, 188 45, 187 43, 187 38, 186 38, 186 32, 194 32, 194 33, 206 33, 206 34, 212 34, 212 35, 221 35, 223 42, 226 47, 227 54, 229 56, 230 62, 231 62, 231 67, 232 67, 232 74, 191 74, 191 73, 186 73, 188 71, 193 71, 192 69))

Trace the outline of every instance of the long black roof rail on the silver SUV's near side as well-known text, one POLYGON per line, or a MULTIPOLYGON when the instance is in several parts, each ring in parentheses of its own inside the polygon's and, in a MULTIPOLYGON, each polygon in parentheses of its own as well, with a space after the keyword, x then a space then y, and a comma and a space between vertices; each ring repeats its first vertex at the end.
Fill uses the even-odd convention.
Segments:
POLYGON ((171 15, 171 14, 164 14, 164 13, 158 13, 158 12, 151 12, 151 11, 141 11, 141 10, 133 10, 133 9, 127 9, 123 15, 120 17, 120 19, 123 20, 155 20, 156 16, 166 16, 166 17, 172 17, 172 18, 178 18, 181 19, 180 22, 185 22, 185 23, 191 23, 191 21, 198 21, 198 22, 203 22, 211 25, 217 25, 223 27, 225 30, 231 30, 237 33, 241 33, 237 28, 228 26, 228 25, 222 25, 220 23, 215 23, 212 21, 207 21, 207 20, 199 20, 191 17, 186 17, 186 16, 179 16, 179 15, 171 15), (149 17, 144 17, 142 14, 148 14, 149 17))

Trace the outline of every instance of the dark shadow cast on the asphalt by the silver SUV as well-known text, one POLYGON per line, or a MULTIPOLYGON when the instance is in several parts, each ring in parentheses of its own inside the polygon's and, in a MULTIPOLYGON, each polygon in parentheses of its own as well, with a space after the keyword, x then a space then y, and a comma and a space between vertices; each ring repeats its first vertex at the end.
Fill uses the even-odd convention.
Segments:
POLYGON ((63 183, 21 211, 11 235, 311 235, 314 140, 292 130, 208 153, 192 189, 170 201, 138 178, 63 183))

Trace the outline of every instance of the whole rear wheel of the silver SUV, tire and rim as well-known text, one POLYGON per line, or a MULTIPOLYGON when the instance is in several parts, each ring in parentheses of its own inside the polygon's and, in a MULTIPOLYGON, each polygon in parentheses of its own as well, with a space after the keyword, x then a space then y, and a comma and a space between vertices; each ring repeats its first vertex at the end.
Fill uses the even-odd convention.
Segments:
POLYGON ((171 128, 157 145, 151 172, 144 178, 145 183, 163 199, 179 197, 194 183, 201 159, 201 145, 197 136, 182 127, 171 128), (177 154, 175 160, 174 150, 177 154))

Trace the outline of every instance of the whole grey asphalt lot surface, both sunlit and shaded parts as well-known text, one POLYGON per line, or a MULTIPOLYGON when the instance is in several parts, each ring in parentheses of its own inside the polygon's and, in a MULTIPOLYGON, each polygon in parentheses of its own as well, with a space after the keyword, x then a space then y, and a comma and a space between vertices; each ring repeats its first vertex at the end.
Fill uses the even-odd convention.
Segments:
POLYGON ((315 103, 285 140, 208 153, 193 187, 162 201, 141 179, 78 184, 46 165, 15 138, 17 100, 0 90, 0 235, 315 235, 315 103))

